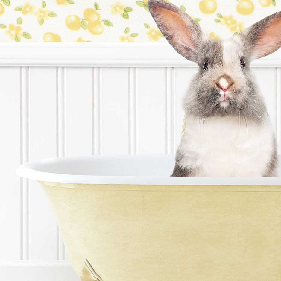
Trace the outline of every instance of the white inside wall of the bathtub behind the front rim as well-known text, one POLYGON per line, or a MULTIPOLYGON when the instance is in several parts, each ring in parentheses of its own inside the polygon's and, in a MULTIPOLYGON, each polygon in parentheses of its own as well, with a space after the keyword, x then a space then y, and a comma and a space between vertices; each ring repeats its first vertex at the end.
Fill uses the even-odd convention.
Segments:
MULTIPOLYGON (((88 176, 168 177, 174 169, 175 155, 89 155, 38 160, 33 168, 54 174, 88 176)), ((281 177, 281 155, 277 177, 281 177)))

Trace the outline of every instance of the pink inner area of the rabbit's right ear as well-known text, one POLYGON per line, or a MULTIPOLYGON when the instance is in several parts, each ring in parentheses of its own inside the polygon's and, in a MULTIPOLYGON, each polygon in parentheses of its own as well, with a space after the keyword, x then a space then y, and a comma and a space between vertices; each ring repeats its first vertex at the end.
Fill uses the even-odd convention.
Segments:
POLYGON ((254 48, 256 58, 273 53, 281 46, 281 18, 275 18, 265 31, 259 36, 259 41, 254 48))

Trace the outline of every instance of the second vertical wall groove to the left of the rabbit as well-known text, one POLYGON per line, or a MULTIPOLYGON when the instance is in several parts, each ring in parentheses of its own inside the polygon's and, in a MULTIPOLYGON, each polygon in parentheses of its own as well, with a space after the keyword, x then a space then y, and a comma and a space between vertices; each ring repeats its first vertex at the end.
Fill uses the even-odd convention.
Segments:
POLYGON ((137 138, 136 138, 136 67, 129 68, 129 154, 136 154, 137 138))

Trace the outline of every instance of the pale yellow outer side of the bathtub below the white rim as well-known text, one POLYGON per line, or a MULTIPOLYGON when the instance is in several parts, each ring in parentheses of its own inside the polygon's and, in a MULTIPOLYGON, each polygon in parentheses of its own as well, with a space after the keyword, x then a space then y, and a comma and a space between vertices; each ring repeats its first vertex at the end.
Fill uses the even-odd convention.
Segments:
POLYGON ((42 185, 70 260, 104 281, 279 280, 281 193, 42 185))

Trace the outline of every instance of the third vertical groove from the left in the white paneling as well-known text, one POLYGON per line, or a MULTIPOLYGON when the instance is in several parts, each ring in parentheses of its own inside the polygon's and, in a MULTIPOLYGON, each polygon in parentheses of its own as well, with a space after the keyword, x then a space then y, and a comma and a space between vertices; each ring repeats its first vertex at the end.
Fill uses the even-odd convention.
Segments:
POLYGON ((93 68, 93 113, 92 113, 92 124, 93 124, 93 154, 102 153, 102 137, 101 137, 101 79, 102 70, 101 67, 93 68))

